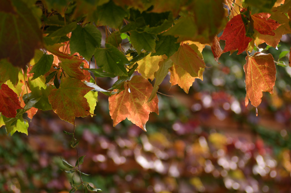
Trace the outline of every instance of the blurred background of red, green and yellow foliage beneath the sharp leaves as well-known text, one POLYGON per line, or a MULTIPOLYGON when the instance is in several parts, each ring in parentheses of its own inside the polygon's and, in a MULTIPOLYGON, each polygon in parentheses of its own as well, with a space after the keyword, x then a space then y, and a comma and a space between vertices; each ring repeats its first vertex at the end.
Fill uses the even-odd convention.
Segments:
MULTIPOLYGON (((274 94, 245 108, 245 54, 224 53, 218 64, 209 46, 204 80, 189 94, 169 77, 160 86, 160 115, 147 132, 128 120, 113 128, 108 96, 98 95, 96 116, 76 119, 84 181, 104 193, 289 193, 291 192, 291 39, 277 49, 261 45, 276 63, 274 94), (284 65, 285 64, 285 65, 284 65), (287 65, 286 65, 287 64, 287 65), (173 96, 173 97, 171 97, 173 96)), ((116 80, 97 78, 108 89, 116 80)), ((0 129, 0 193, 68 193, 74 164, 73 126, 52 111, 29 123, 29 135, 0 129)), ((74 180, 80 182, 78 175, 74 180)))

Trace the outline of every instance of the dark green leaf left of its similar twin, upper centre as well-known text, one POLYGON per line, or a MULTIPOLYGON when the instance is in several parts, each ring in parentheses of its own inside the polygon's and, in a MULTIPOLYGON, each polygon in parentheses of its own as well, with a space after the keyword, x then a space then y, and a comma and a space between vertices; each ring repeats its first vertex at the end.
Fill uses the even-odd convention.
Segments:
POLYGON ((137 53, 141 53, 141 50, 155 52, 157 36, 147 32, 130 32, 130 41, 137 53))

